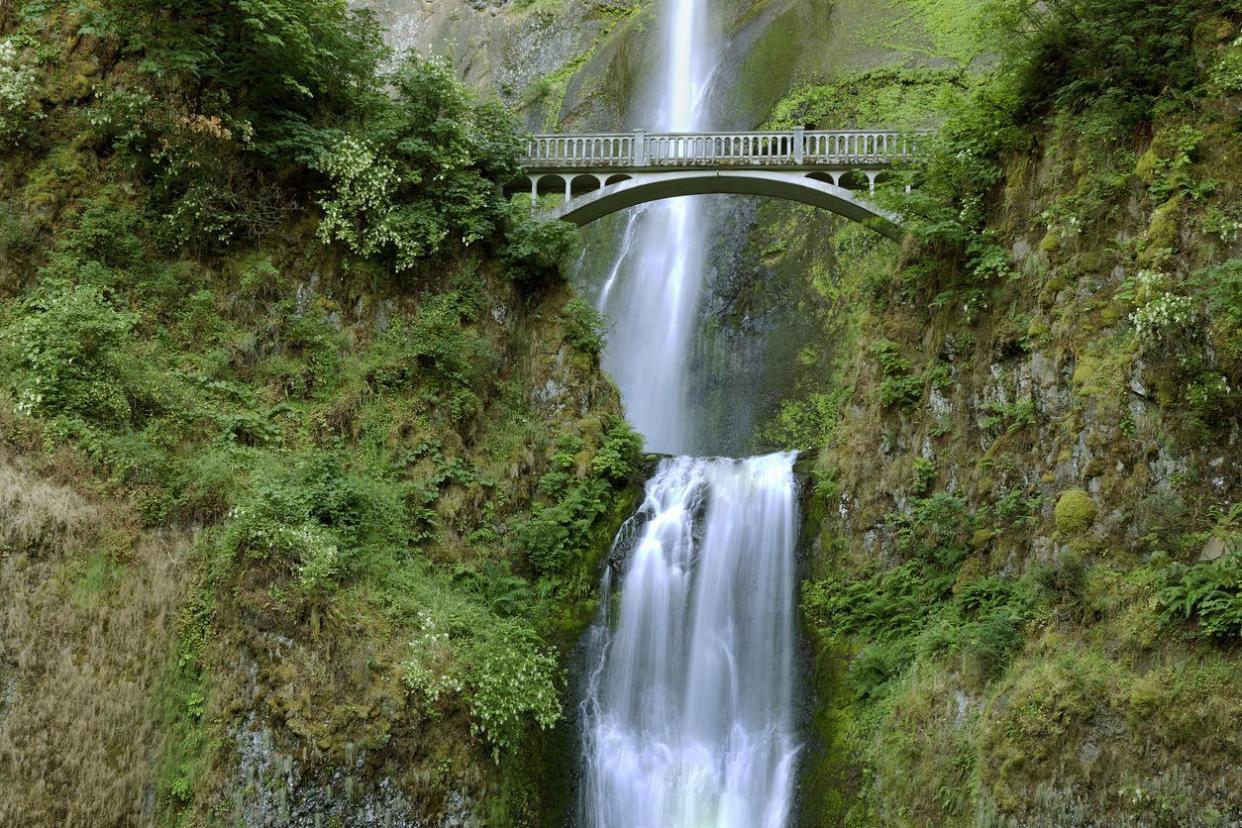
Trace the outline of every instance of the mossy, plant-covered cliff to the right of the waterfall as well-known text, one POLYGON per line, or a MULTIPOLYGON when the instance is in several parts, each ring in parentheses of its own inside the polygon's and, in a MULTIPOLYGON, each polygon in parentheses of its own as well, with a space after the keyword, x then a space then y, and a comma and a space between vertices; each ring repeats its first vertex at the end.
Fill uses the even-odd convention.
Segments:
POLYGON ((753 233, 775 279, 814 262, 823 331, 766 430, 816 449, 802 814, 1232 824, 1242 7, 984 11, 982 66, 773 115, 941 122, 882 196, 900 251, 780 205, 753 233))

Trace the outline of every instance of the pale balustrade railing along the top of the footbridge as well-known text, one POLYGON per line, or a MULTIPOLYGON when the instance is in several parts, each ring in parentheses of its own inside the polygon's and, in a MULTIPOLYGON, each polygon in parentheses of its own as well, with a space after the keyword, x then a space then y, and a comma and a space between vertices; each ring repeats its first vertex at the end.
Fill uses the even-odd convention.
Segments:
POLYGON ((927 133, 807 130, 532 135, 528 170, 687 166, 887 166, 917 158, 927 133))

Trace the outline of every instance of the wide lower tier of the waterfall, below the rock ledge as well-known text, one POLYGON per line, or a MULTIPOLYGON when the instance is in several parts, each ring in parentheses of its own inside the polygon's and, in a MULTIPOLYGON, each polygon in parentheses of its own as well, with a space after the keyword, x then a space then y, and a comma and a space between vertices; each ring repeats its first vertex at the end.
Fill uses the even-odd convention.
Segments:
POLYGON ((792 463, 679 457, 647 483, 619 617, 591 632, 585 824, 785 824, 797 754, 792 463))

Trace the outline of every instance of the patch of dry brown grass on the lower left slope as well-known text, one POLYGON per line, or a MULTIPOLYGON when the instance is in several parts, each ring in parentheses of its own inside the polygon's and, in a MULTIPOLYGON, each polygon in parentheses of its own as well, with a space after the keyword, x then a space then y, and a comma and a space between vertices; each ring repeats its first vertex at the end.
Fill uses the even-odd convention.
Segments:
POLYGON ((150 824, 186 539, 88 557, 107 510, 12 463, 0 509, 0 538, 22 550, 0 555, 0 826, 150 824))

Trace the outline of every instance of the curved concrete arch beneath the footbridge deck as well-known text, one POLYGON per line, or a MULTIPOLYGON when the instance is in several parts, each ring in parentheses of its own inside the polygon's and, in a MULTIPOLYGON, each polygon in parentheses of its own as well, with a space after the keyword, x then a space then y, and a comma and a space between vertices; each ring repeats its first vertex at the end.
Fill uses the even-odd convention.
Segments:
POLYGON ((764 170, 638 173, 627 181, 566 200, 561 206, 548 211, 545 217, 582 227, 648 201, 713 194, 759 195, 799 201, 857 221, 888 238, 902 237, 895 216, 857 197, 850 190, 811 179, 806 173, 764 170))

